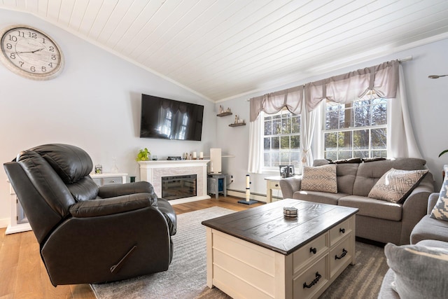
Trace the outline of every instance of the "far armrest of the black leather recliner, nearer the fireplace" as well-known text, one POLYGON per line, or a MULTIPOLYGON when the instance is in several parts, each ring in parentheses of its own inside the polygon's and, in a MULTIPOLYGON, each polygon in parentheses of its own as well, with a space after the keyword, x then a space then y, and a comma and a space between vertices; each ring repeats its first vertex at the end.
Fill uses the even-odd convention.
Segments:
POLYGON ((134 193, 149 193, 157 198, 154 188, 147 181, 139 181, 136 183, 116 183, 111 185, 99 186, 98 196, 101 198, 116 197, 121 195, 130 195, 134 193))

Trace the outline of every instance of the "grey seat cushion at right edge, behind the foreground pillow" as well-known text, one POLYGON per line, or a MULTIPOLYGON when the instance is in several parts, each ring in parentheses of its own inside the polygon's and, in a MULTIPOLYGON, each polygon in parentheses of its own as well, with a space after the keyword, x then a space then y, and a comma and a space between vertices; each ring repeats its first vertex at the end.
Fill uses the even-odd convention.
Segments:
POLYGON ((423 239, 437 239, 448 242, 448 221, 423 216, 414 226, 411 232, 411 244, 416 244, 423 239))

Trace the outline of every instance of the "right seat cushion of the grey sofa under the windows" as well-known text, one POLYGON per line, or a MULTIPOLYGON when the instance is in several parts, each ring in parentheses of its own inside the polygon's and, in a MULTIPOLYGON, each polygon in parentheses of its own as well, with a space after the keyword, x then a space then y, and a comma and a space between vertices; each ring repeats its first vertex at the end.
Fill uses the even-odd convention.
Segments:
POLYGON ((381 218, 392 221, 401 220, 402 205, 374 198, 349 195, 339 198, 338 204, 344 207, 358 208, 356 215, 381 218))

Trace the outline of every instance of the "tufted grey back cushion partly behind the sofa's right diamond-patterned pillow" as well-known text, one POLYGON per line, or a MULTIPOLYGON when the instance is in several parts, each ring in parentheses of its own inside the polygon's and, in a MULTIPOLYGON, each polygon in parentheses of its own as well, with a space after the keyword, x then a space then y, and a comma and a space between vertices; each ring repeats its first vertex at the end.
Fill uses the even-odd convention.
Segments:
POLYGON ((415 170, 424 169, 425 160, 417 158, 397 158, 360 163, 353 183, 353 195, 368 196, 370 190, 389 169, 415 170))

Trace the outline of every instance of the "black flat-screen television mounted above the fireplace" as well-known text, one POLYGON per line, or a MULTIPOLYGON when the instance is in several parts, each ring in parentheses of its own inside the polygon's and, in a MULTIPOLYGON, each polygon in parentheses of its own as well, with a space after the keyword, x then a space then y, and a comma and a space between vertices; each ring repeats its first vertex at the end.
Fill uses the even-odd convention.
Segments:
POLYGON ((140 138, 201 141, 204 106, 141 95, 140 138))

